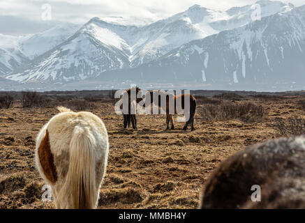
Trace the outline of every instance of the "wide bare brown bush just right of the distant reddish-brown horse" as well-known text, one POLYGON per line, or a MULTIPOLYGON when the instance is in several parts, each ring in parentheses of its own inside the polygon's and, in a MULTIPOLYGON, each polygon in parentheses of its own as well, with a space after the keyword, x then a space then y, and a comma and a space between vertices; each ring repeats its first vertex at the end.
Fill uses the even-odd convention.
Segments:
POLYGON ((251 102, 224 102, 222 105, 204 105, 198 112, 204 121, 239 119, 246 122, 255 122, 261 121, 268 114, 264 107, 251 102))

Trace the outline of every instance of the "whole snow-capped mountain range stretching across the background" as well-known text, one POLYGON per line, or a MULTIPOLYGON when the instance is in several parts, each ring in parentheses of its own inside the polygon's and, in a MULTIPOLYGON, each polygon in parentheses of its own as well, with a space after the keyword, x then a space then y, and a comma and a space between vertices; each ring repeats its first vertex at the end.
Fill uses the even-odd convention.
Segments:
POLYGON ((258 1, 217 11, 195 5, 135 26, 94 17, 33 36, 0 35, 0 76, 20 83, 305 84, 305 6, 258 1))

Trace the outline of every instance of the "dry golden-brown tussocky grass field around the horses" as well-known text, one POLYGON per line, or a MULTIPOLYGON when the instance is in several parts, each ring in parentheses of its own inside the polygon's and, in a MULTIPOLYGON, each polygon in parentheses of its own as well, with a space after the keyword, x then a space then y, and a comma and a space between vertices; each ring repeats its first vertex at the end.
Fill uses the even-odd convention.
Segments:
MULTIPOLYGON (((304 130, 301 95, 196 98, 193 132, 177 122, 175 130, 165 130, 164 115, 137 116, 138 130, 124 129, 112 102, 92 100, 84 107, 103 119, 110 140, 98 208, 197 208, 221 161, 250 144, 304 130)), ((73 102, 61 103, 73 109, 73 102)), ((34 149, 38 131, 58 113, 55 107, 23 108, 15 100, 0 109, 0 208, 54 208, 41 199, 45 183, 34 149)))

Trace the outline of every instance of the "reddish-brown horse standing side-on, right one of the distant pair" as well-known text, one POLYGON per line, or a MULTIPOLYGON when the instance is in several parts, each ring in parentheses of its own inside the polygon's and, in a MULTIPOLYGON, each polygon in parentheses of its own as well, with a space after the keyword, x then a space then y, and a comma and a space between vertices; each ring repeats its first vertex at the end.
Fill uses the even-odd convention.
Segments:
POLYGON ((189 118, 186 120, 186 123, 184 125, 183 130, 187 130, 188 125, 191 125, 191 131, 195 130, 194 128, 194 116, 195 116, 195 111, 196 111, 196 99, 193 95, 185 93, 181 95, 174 95, 172 93, 167 93, 165 91, 149 91, 150 97, 145 97, 144 99, 144 105, 151 105, 154 104, 158 106, 159 108, 165 110, 166 112, 166 124, 168 130, 170 128, 170 123, 172 125, 171 129, 174 130, 174 120, 173 120, 173 115, 178 114, 179 112, 177 111, 177 105, 179 105, 179 102, 181 102, 181 109, 184 110, 184 116, 186 116, 186 105, 188 103, 185 103, 186 100, 189 100, 189 118), (158 102, 156 103, 154 100, 154 93, 158 94, 158 102), (165 105, 162 104, 162 98, 165 98, 165 105), (150 100, 150 101, 149 101, 150 100), (171 100, 172 100, 172 105, 171 105, 171 100), (173 106, 173 109, 171 111, 170 107, 173 106), (172 113, 172 114, 171 114, 172 113))

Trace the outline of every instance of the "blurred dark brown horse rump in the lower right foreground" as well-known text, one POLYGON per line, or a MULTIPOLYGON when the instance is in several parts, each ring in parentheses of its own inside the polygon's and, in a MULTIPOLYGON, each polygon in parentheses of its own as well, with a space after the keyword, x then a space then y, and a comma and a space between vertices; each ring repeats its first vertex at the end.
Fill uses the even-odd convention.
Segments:
POLYGON ((229 157, 209 178, 201 208, 305 208, 305 137, 269 140, 229 157))

